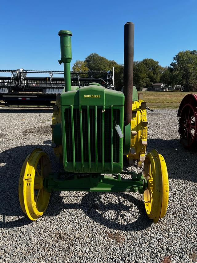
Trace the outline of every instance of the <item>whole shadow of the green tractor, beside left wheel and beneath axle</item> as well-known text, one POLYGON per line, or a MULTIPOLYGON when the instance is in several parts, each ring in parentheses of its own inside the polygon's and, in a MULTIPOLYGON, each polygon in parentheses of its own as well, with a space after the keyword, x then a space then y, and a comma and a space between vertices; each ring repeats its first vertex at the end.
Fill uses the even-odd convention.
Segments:
MULTIPOLYGON (((49 142, 47 141, 45 143, 49 142)), ((18 146, 0 153, 0 228, 13 228, 32 224, 31 221, 24 216, 20 207, 18 180, 26 156, 35 148, 41 148, 49 155, 54 172, 62 171, 62 167, 54 162, 53 149, 49 145, 18 146)), ((76 209, 78 210, 77 213, 82 210, 82 213, 85 213, 86 216, 95 222, 113 229, 137 231, 147 228, 152 224, 152 220, 149 220, 146 216, 143 201, 127 193, 113 193, 117 198, 121 197, 125 202, 129 202, 129 205, 123 201, 117 203, 107 201, 107 203, 103 203, 102 200, 100 200, 101 194, 103 193, 87 193, 82 196, 80 203, 70 203, 69 201, 65 203, 63 200, 64 197, 60 196, 59 192, 54 192, 51 195, 50 203, 44 216, 55 216, 60 214, 62 210, 76 209), (135 211, 132 209, 133 207, 135 207, 135 211), (105 217, 105 213, 109 210, 114 211, 116 215, 112 219, 105 217), (134 213, 131 224, 126 222, 126 212, 134 213), (136 216, 135 213, 137 213, 136 216), (116 220, 118 217, 123 217, 124 224, 120 224, 116 220)), ((109 194, 110 193, 108 193, 108 195, 109 194)), ((69 195, 72 194, 66 193, 66 195, 68 195, 68 200, 70 200, 69 195)))

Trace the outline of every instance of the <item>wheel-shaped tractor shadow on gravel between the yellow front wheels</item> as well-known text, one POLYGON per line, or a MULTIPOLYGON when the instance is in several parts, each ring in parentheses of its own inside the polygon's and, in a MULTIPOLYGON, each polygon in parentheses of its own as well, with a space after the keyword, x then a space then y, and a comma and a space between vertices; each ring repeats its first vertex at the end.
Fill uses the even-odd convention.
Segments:
POLYGON ((153 221, 147 217, 142 200, 123 192, 107 193, 108 196, 105 196, 105 194, 104 192, 89 192, 82 198, 81 196, 78 197, 81 199, 80 203, 66 203, 63 199, 72 199, 70 193, 65 192, 64 196, 59 196, 59 193, 55 192, 52 195, 45 216, 54 216, 54 214, 59 214, 63 210, 75 209, 78 210, 76 213, 85 213, 96 223, 122 231, 143 230, 153 224, 153 221), (109 195, 112 195, 112 197, 109 195), (103 196, 105 196, 104 202, 103 196), (116 199, 119 202, 106 201, 108 197, 110 200, 116 199))

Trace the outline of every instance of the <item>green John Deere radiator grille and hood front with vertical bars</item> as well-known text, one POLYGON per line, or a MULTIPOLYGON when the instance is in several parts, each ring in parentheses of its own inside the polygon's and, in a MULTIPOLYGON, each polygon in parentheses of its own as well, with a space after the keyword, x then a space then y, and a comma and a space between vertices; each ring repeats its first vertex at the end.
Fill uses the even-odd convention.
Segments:
POLYGON ((123 132, 124 94, 101 86, 89 85, 79 90, 62 93, 60 101, 65 171, 121 172, 123 138, 119 138, 115 125, 120 125, 123 132), (70 151, 70 147, 72 153, 67 152, 70 151), (75 160, 79 155, 79 159, 75 160), (84 156, 87 157, 86 160, 84 156))

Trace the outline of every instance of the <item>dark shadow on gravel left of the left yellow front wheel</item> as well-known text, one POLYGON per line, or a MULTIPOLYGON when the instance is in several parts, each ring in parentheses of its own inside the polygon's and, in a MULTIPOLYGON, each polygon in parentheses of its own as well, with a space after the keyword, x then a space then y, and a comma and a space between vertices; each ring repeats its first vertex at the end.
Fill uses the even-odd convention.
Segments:
MULTIPOLYGON (((18 146, 0 153, 0 228, 20 227, 31 222, 20 207, 18 181, 26 156, 35 148, 46 151, 50 158, 53 154, 48 145, 18 146)), ((51 161, 55 166, 52 158, 51 161)))

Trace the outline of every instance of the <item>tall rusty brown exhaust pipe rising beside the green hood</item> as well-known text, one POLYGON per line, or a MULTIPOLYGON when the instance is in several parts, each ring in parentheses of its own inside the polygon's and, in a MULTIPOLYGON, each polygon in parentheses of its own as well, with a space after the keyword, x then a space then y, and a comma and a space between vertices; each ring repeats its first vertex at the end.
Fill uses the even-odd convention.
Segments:
POLYGON ((132 119, 134 24, 124 25, 124 125, 132 119))

